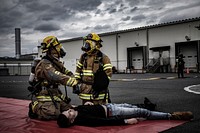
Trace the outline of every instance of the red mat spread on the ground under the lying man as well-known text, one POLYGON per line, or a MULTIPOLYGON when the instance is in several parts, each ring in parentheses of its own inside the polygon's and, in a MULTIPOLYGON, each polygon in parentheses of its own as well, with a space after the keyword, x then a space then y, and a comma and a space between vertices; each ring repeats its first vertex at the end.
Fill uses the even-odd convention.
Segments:
POLYGON ((59 128, 56 121, 29 119, 28 100, 0 97, 1 133, 157 133, 185 123, 186 121, 147 120, 136 125, 59 128))

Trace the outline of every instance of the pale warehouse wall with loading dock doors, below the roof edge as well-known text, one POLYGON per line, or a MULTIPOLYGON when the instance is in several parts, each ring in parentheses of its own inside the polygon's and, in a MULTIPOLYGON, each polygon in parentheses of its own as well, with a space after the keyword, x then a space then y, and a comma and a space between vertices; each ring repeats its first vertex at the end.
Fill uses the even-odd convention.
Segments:
MULTIPOLYGON (((187 71, 200 71, 200 17, 99 36, 103 40, 101 50, 120 73, 176 72, 179 53, 184 56, 187 71)), ((63 61, 75 71, 76 61, 82 54, 82 37, 61 40, 61 43, 67 50, 63 61)))

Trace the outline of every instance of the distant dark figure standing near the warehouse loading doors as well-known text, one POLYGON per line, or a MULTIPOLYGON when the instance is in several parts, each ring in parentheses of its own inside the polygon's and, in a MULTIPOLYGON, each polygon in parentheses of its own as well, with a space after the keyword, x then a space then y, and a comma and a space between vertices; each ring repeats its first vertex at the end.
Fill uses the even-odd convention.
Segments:
POLYGON ((183 54, 179 54, 177 61, 178 78, 184 78, 185 62, 183 60, 183 54))

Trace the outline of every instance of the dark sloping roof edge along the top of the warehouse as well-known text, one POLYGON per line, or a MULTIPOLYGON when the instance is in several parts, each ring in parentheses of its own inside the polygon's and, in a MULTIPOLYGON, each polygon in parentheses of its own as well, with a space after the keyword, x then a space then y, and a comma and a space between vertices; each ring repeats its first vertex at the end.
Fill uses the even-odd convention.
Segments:
MULTIPOLYGON (((152 28, 181 24, 181 23, 188 23, 188 22, 199 21, 199 20, 200 20, 200 17, 188 18, 188 19, 184 19, 184 20, 171 21, 171 22, 160 23, 160 24, 155 24, 155 25, 105 32, 105 33, 100 33, 98 35, 102 37, 102 36, 107 36, 107 35, 120 34, 120 33, 126 33, 126 32, 138 31, 138 30, 146 30, 146 29, 152 29, 152 28)), ((66 40, 60 40, 60 42, 63 43, 63 42, 77 41, 77 40, 82 40, 82 39, 83 39, 83 37, 76 37, 76 38, 71 38, 71 39, 66 39, 66 40)))

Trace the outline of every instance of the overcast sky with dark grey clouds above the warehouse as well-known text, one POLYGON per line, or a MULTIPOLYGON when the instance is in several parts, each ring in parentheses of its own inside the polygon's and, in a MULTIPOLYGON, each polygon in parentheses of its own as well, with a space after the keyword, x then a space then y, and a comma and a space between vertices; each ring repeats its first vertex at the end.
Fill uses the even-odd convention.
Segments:
POLYGON ((15 57, 15 28, 29 54, 48 35, 63 40, 194 17, 200 0, 2 0, 0 57, 15 57))

